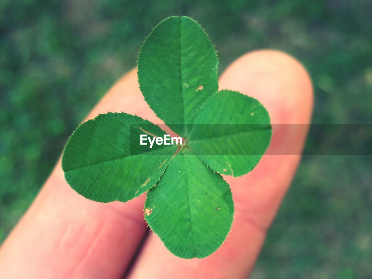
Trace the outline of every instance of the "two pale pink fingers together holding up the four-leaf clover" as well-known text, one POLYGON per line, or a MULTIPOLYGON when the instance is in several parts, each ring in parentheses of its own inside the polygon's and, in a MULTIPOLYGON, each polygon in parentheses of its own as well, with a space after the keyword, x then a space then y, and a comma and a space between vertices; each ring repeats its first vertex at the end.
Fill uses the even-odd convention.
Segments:
MULTIPOLYGON (((310 123, 311 80, 298 61, 282 52, 263 50, 243 55, 225 70, 219 87, 258 99, 273 124, 310 123)), ((163 124, 144 101, 135 69, 109 90, 86 119, 121 111, 163 124)), ((273 132, 270 150, 300 154, 306 125, 294 131, 282 127, 273 132)), ((126 203, 87 200, 65 182, 58 161, 1 246, 0 274, 13 279, 122 278, 123 274, 131 279, 247 278, 299 160, 300 155, 264 155, 250 173, 225 177, 235 202, 231 232, 214 254, 190 260, 175 257, 157 235, 148 234, 144 195, 126 203)))

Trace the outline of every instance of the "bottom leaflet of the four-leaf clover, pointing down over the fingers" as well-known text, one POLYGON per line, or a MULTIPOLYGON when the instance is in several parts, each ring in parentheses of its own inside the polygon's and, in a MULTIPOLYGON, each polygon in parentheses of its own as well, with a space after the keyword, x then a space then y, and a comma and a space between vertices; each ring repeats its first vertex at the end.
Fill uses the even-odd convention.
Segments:
POLYGON ((145 218, 165 246, 182 258, 212 254, 230 231, 230 187, 188 148, 179 151, 148 193, 145 218))

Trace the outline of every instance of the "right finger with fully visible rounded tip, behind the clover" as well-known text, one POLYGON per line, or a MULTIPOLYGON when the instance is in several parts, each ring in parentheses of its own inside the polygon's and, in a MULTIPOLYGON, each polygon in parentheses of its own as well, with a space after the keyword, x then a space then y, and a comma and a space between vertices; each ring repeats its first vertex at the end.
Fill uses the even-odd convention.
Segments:
MULTIPOLYGON (((281 52, 266 50, 244 55, 221 76, 220 88, 259 99, 273 124, 310 122, 310 78, 294 58, 281 52)), ((290 129, 282 125, 274 129, 267 154, 300 154, 307 133, 304 127, 290 129)), ((225 177, 235 202, 234 222, 227 241, 214 254, 204 259, 180 259, 156 235, 151 235, 129 278, 247 278, 299 158, 264 155, 251 173, 225 177)))

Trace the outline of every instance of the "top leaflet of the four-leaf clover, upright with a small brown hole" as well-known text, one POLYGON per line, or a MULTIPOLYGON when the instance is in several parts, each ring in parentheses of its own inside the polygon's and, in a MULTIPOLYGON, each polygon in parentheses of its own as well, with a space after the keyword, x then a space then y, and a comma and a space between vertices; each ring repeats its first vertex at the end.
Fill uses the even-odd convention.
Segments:
POLYGON ((218 90, 217 65, 217 53, 201 26, 189 17, 169 17, 141 48, 140 89, 159 118, 187 137, 186 124, 193 123, 201 104, 218 90))

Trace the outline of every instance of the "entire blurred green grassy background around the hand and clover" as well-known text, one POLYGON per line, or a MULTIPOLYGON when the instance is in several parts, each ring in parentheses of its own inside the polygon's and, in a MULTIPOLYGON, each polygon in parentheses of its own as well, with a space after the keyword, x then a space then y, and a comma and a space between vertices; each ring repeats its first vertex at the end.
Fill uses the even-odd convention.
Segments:
MULTIPOLYGON (((1 0, 0 243, 68 136, 171 15, 201 23, 220 73, 247 51, 280 49, 310 72, 313 123, 371 124, 372 1, 1 0)), ((251 278, 371 278, 371 169, 371 156, 303 157, 251 278)))

